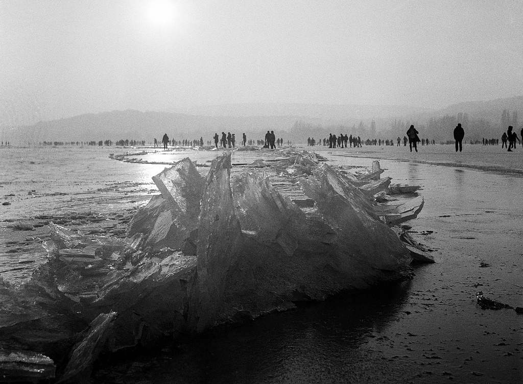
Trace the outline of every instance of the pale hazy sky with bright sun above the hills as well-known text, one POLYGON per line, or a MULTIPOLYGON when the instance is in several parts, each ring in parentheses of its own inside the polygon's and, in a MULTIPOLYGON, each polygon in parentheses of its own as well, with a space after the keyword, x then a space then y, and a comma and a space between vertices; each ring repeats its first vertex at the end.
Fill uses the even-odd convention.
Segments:
POLYGON ((444 107, 522 95, 522 52, 521 1, 0 0, 0 118, 444 107))

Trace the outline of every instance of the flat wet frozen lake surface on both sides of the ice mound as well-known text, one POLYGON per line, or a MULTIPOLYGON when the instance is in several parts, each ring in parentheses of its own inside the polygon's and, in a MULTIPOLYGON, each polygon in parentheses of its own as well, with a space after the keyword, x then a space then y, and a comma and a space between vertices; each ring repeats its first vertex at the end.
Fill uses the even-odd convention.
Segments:
MULTIPOLYGON (((451 148, 435 147, 435 150, 451 148)), ((424 147, 419 150, 416 155, 421 157, 424 147)), ((2 196, 12 205, 0 208, 3 231, 0 245, 12 241, 13 235, 35 236, 38 231, 45 231, 45 227, 13 231, 6 228, 13 222, 5 219, 18 220, 21 216, 29 222, 38 222, 31 217, 90 210, 93 217, 100 215, 103 221, 79 219, 86 223, 70 228, 95 229, 106 222, 118 222, 106 218, 115 215, 118 219, 116 214, 144 204, 157 193, 151 176, 165 165, 113 161, 106 157, 110 152, 116 151, 60 149, 42 151, 41 155, 33 151, 32 157, 17 165, 28 168, 18 184, 8 184, 8 175, 2 175, 0 193, 7 195, 4 191, 13 191, 15 197, 2 196), (54 159, 54 155, 60 157, 54 159), (30 161, 51 163, 43 163, 37 172, 31 168, 37 164, 28 164, 30 161), (40 176, 42 173, 44 176, 40 176), (71 177, 64 178, 63 173, 71 177), (71 182, 71 178, 79 185, 71 182), (131 184, 123 189, 118 184, 126 182, 131 184), (32 189, 41 190, 42 194, 58 191, 69 195, 22 199, 32 189), (82 191, 84 195, 73 195, 82 191)), ((333 160, 329 164, 350 170, 354 170, 353 165, 371 164, 371 159, 329 155, 328 150, 319 152, 333 160)), ((379 156, 367 155, 394 157, 400 153, 397 149, 381 152, 379 156)), ((518 152, 514 154, 520 156, 518 152)), ((172 158, 172 161, 201 156, 198 163, 200 159, 204 163, 215 155, 184 152, 147 156, 172 158)), ((434 157, 452 155, 455 154, 436 153, 434 157)), ((485 152, 482 159, 491 156, 491 161, 482 161, 497 163, 496 159, 502 155, 501 150, 499 154, 485 152)), ((259 157, 259 153, 236 152, 233 164, 254 156, 259 157)), ((427 153, 423 156, 431 160, 427 153)), ((465 157, 465 153, 461 156, 465 157)), ((413 160, 419 160, 418 157, 413 160)), ((423 186, 420 194, 425 197, 425 207, 410 224, 416 240, 436 250, 433 254, 437 264, 417 268, 416 277, 409 283, 269 315, 238 329, 182 342, 161 353, 102 367, 96 381, 122 382, 124 377, 133 375, 140 382, 442 382, 450 378, 454 382, 521 382, 521 315, 512 310, 482 310, 476 306, 475 292, 482 290, 491 299, 523 306, 520 229, 523 178, 516 174, 413 162, 382 160, 381 166, 387 168, 385 175, 391 176, 394 183, 423 186), (481 267, 484 264, 489 266, 481 267), (115 375, 117 372, 121 375, 115 375)), ((208 168, 198 169, 205 173, 208 168)), ((234 167, 233 172, 236 172, 234 167)), ((34 242, 35 249, 37 243, 34 242)), ((15 246, 27 248, 21 244, 15 246)), ((24 252, 19 253, 35 257, 32 252, 24 252)), ((4 253, 0 257, 4 257, 4 262, 6 257, 14 255, 4 253)))

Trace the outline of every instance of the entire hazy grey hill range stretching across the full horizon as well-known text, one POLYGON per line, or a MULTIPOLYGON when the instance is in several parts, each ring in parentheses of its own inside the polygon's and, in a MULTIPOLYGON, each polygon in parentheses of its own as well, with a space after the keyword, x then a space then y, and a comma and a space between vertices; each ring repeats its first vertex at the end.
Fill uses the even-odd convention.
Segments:
MULTIPOLYGON (((164 133, 170 138, 211 140, 214 132, 234 132, 237 137, 263 139, 267 130, 278 137, 303 142, 323 138, 329 132, 361 137, 403 137, 410 123, 425 127, 425 137, 447 140, 458 114, 475 121, 466 138, 497 137, 504 109, 523 117, 523 96, 453 104, 440 110, 408 106, 322 105, 322 104, 226 104, 200 106, 184 111, 110 111, 66 119, 41 121, 30 127, 0 128, 2 140, 12 143, 42 141, 100 141, 120 139, 152 143, 164 133), (434 123, 434 120, 438 120, 434 123), (481 124, 477 120, 483 119, 481 124), (371 120, 376 131, 371 133, 371 120), (430 121, 433 121, 430 125, 430 121), (376 133, 377 132, 377 133, 376 133)), ((519 132, 519 131, 518 131, 519 132)))

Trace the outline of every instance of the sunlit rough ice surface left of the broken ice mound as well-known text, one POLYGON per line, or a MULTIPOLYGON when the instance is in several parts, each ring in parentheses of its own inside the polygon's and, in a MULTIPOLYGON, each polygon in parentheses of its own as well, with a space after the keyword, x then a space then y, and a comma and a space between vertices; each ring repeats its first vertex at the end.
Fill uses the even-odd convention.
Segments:
POLYGON ((87 233, 121 234, 137 206, 157 193, 151 176, 162 165, 126 164, 102 148, 0 150, 0 274, 30 277, 46 261, 47 223, 87 233), (26 230, 29 229, 29 230, 26 230))

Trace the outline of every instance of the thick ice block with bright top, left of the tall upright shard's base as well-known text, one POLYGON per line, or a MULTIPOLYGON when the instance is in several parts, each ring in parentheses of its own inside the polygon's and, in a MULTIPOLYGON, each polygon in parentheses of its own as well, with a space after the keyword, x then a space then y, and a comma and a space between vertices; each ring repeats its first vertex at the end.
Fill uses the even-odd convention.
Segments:
POLYGON ((144 260, 113 274, 100 287, 86 314, 115 311, 115 348, 156 346, 168 335, 186 331, 188 281, 196 257, 181 252, 161 261, 144 260))

